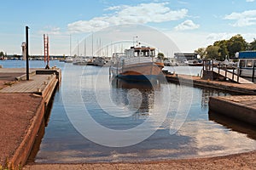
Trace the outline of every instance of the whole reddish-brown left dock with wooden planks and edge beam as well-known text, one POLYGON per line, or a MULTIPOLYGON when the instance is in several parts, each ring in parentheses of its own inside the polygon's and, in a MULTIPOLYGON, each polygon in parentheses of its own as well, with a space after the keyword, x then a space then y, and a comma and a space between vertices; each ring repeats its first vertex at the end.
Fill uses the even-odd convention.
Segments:
POLYGON ((42 69, 32 69, 29 81, 24 80, 25 73, 25 69, 0 69, 0 169, 26 164, 49 100, 61 80, 59 69, 45 74, 42 69))

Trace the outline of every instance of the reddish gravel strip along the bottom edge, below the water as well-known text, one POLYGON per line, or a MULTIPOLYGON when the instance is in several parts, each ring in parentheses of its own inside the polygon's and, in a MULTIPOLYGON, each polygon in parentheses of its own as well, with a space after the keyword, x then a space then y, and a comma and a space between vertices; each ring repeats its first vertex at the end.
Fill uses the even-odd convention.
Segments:
POLYGON ((23 170, 79 169, 256 169, 256 151, 231 156, 187 160, 148 161, 135 163, 32 164, 23 170))

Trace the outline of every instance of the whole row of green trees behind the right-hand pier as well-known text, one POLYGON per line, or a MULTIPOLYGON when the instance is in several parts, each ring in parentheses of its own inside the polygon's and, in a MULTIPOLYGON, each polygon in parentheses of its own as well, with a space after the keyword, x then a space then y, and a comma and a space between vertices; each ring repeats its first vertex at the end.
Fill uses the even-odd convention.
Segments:
POLYGON ((240 34, 237 34, 229 40, 216 41, 207 48, 198 48, 195 53, 198 53, 201 59, 224 60, 235 59, 236 52, 246 50, 256 50, 256 39, 253 38, 253 42, 246 42, 240 34))

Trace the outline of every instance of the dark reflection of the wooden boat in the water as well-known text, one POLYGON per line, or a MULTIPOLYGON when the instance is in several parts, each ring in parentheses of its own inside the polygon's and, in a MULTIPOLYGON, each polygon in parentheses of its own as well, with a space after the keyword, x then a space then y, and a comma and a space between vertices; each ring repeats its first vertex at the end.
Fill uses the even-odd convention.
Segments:
POLYGON ((133 116, 146 116, 154 108, 154 91, 160 90, 160 80, 132 82, 111 77, 111 99, 118 106, 127 106, 133 116))

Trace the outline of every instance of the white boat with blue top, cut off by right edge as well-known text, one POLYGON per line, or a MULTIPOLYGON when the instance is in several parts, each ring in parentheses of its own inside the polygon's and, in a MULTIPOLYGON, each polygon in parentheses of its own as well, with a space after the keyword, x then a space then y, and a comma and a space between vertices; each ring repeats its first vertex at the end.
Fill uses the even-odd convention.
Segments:
POLYGON ((241 77, 256 78, 256 51, 238 53, 238 67, 241 77))

